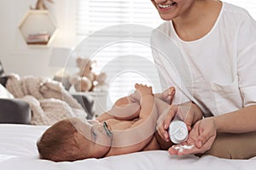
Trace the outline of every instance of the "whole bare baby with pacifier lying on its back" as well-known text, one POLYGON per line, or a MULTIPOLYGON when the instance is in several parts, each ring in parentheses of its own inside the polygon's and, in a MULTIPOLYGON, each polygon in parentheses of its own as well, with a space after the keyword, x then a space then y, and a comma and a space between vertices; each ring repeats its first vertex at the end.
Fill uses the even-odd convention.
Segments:
POLYGON ((136 91, 115 102, 113 108, 96 120, 70 118, 56 122, 38 140, 41 159, 76 161, 160 150, 155 139, 156 121, 172 102, 174 88, 154 95, 152 88, 136 84, 136 91))

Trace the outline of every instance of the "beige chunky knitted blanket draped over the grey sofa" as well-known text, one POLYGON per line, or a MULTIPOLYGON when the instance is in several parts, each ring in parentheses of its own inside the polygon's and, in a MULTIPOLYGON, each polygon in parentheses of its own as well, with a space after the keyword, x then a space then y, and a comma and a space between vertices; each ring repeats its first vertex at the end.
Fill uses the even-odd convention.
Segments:
POLYGON ((6 88, 15 98, 26 101, 32 110, 33 125, 52 125, 68 117, 86 117, 79 102, 61 82, 44 77, 10 75, 6 88))

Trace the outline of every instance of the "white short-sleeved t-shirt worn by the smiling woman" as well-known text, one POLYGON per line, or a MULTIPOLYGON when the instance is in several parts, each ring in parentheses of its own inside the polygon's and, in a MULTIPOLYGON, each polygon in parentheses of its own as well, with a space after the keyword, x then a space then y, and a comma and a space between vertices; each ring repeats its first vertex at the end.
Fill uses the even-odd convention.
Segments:
POLYGON ((223 3, 212 30, 191 42, 167 21, 151 45, 163 88, 177 87, 177 104, 193 100, 205 116, 256 104, 256 22, 245 9, 223 3))

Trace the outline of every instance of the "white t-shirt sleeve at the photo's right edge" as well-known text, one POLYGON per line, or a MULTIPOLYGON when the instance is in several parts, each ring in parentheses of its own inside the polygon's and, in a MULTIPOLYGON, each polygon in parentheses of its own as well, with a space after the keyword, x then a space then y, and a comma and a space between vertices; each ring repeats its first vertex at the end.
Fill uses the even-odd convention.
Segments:
POLYGON ((244 106, 256 104, 256 21, 247 14, 239 30, 237 76, 244 106))

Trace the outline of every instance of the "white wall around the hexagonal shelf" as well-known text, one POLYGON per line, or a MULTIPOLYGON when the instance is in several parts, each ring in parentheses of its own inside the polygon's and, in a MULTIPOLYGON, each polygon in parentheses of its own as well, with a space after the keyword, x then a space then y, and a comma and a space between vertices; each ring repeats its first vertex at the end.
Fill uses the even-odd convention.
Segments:
POLYGON ((37 0, 0 0, 0 59, 6 72, 20 76, 52 77, 57 68, 49 66, 54 47, 75 45, 76 0, 54 0, 46 3, 58 31, 49 48, 32 48, 26 45, 18 29, 30 6, 37 0))

